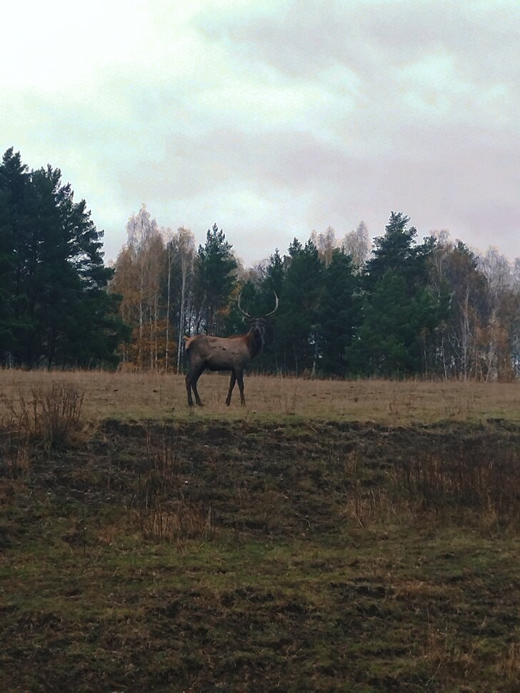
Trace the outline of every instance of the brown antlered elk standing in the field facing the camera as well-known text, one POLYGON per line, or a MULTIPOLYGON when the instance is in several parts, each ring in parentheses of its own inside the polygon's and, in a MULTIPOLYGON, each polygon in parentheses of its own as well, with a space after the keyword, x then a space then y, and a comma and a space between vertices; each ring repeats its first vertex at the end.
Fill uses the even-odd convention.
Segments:
POLYGON ((231 393, 238 381, 241 404, 246 404, 244 399, 244 369, 251 359, 258 356, 264 347, 264 331, 266 317, 272 315, 278 309, 278 296, 274 292, 276 305, 274 310, 259 318, 253 318, 242 309, 239 296, 238 306, 241 314, 249 323, 249 332, 237 334, 231 337, 214 337, 209 334, 196 334, 192 337, 184 337, 186 341, 186 354, 189 357, 189 368, 186 374, 186 392, 188 393, 188 405, 193 407, 191 391, 195 395, 195 402, 202 406, 197 381, 206 369, 210 371, 231 371, 229 392, 226 397, 226 405, 229 407, 231 393))

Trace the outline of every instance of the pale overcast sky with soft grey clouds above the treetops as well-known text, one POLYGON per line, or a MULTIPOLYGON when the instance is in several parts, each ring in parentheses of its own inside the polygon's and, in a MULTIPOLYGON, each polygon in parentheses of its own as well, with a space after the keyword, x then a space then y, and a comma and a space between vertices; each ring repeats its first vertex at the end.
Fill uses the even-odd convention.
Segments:
POLYGON ((29 0, 0 9, 0 145, 105 229, 145 203, 246 265, 391 210, 520 256, 518 0, 29 0))

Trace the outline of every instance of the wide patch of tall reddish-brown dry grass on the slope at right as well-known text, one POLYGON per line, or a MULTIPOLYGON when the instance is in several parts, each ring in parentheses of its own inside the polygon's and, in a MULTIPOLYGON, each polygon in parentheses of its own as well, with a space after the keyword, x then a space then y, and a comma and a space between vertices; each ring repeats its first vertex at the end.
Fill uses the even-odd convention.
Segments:
POLYGON ((486 529, 519 526, 520 454, 494 439, 461 441, 386 459, 374 470, 354 451, 345 464, 349 478, 341 517, 369 524, 410 522, 429 514, 442 520, 475 520, 486 529))

